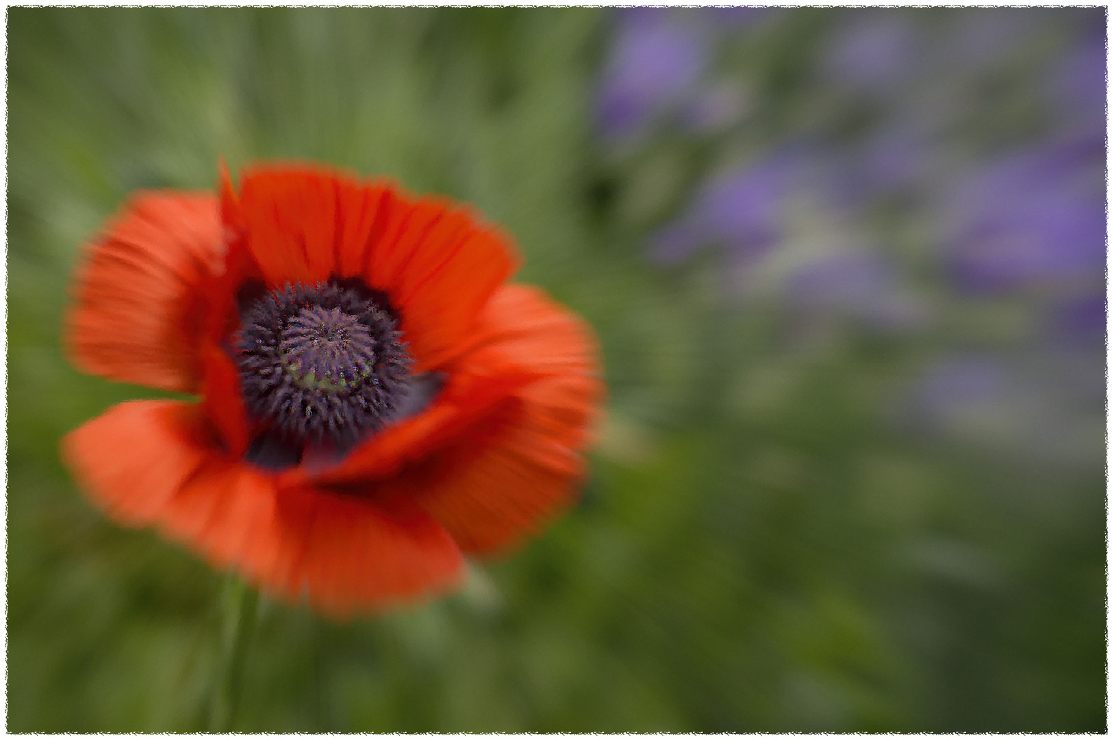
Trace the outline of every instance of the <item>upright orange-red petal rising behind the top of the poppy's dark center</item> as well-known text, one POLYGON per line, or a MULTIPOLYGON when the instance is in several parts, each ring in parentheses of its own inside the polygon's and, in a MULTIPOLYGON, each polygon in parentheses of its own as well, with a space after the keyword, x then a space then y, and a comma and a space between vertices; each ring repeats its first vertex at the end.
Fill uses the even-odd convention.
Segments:
POLYGON ((249 170, 238 214, 267 283, 358 277, 401 314, 415 370, 459 347, 516 268, 508 239, 444 200, 309 167, 249 170))

